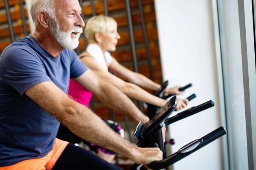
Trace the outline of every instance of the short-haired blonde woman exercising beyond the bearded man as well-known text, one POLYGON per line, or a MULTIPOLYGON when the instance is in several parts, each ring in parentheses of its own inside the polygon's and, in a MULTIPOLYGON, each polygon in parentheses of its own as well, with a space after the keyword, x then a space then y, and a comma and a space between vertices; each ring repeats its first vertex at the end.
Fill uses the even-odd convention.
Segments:
MULTIPOLYGON (((159 107, 162 107, 167 102, 166 100, 149 94, 140 88, 144 87, 156 91, 161 87, 161 85, 151 81, 142 74, 125 68, 108 52, 116 50, 117 42, 120 39, 117 32, 117 23, 113 18, 102 15, 90 18, 85 27, 85 34, 90 44, 87 46, 86 51, 84 51, 79 57, 88 68, 133 99, 159 107), (112 71, 128 82, 119 79, 109 71, 112 71)), ((178 88, 179 86, 168 88, 165 92, 173 95, 183 94, 183 92, 180 92, 178 88)), ((70 90, 70 94, 72 96, 79 95, 76 92, 73 93, 72 89, 70 90)), ((187 99, 178 99, 176 110, 185 108, 186 105, 188 105, 187 99)))

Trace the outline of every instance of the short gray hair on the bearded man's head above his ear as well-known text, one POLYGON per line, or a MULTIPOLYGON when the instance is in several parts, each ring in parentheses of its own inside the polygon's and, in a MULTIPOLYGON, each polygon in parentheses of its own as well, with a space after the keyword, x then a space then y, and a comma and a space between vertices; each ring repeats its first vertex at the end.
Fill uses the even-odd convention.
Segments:
POLYGON ((38 26, 38 12, 45 11, 50 19, 55 18, 55 0, 32 0, 30 14, 33 23, 38 26))

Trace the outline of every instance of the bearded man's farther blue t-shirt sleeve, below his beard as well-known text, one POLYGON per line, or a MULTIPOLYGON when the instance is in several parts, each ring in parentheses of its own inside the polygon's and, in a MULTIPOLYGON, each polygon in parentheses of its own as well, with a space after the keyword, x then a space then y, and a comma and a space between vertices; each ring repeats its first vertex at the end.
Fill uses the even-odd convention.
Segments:
POLYGON ((70 50, 71 65, 70 65, 70 78, 77 78, 87 71, 87 66, 79 59, 74 50, 70 50))

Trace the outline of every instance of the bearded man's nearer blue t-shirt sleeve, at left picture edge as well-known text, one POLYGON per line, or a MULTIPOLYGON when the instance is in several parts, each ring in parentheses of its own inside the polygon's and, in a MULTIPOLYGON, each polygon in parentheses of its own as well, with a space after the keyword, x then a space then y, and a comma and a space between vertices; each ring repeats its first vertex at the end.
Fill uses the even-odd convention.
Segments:
POLYGON ((23 95, 29 88, 40 82, 52 81, 43 64, 29 48, 11 46, 1 56, 0 73, 3 82, 23 95))

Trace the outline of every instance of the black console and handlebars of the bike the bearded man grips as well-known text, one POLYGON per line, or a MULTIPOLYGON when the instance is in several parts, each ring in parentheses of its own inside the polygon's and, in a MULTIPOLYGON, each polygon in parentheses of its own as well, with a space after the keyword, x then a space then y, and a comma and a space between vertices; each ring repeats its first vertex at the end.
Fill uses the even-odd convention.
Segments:
MULTIPOLYGON (((212 102, 209 101, 207 103, 211 104, 212 102)), ((163 127, 164 122, 166 123, 169 122, 169 125, 172 122, 176 122, 176 121, 171 121, 171 119, 174 119, 172 117, 167 119, 175 110, 176 105, 177 105, 177 97, 174 96, 169 100, 169 102, 166 103, 166 105, 160 108, 157 114, 153 118, 151 118, 147 123, 142 125, 139 122, 133 134, 134 143, 137 144, 137 146, 139 147, 159 147, 160 150, 164 153, 165 150, 163 146, 163 135, 162 135, 161 128, 163 127)), ((196 109, 191 108, 190 113, 194 111, 200 111, 203 108, 207 108, 207 107, 209 107, 209 104, 202 104, 200 107, 199 106, 195 107, 196 109)), ((180 115, 178 116, 176 115, 176 119, 180 115)), ((181 119, 181 117, 183 117, 182 119, 184 119, 187 116, 180 116, 179 119, 181 119)), ((215 141, 216 139, 220 138, 225 134, 226 134, 226 130, 224 129, 224 127, 219 127, 218 129, 212 131, 211 133, 208 133, 206 136, 203 136, 200 139, 196 139, 186 144, 185 146, 181 147, 180 150, 178 150, 176 153, 173 153, 172 155, 166 157, 165 159, 151 162, 147 166, 153 170, 160 170, 160 169, 169 167, 170 165, 175 164, 177 161, 180 161, 186 156, 189 156, 190 154, 194 153, 195 151, 201 149, 202 147, 215 141)))

